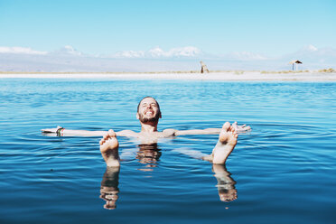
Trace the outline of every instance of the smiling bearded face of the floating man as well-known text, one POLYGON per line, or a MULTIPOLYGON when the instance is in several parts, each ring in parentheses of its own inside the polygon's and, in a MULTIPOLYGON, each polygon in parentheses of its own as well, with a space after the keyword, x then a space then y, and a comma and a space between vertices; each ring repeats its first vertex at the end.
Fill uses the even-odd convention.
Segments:
POLYGON ((161 118, 161 113, 155 99, 144 98, 141 100, 137 116, 142 123, 157 122, 161 118))

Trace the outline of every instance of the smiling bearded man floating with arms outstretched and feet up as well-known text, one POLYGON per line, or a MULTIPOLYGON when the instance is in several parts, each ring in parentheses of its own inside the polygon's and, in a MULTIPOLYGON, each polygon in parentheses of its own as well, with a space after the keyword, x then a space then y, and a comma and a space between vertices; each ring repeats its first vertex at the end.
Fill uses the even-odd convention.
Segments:
POLYGON ((176 130, 165 129, 162 132, 157 130, 159 119, 162 117, 158 102, 151 97, 143 98, 138 107, 136 118, 141 124, 141 131, 135 133, 132 130, 122 130, 114 132, 110 129, 108 132, 103 131, 84 131, 84 130, 68 130, 64 128, 43 129, 43 133, 57 133, 58 135, 103 135, 100 140, 100 152, 107 163, 107 166, 120 166, 120 158, 118 154, 117 136, 136 137, 141 140, 142 144, 154 144, 159 138, 173 137, 179 135, 218 135, 219 141, 212 150, 212 154, 202 156, 201 159, 210 161, 215 164, 224 164, 237 144, 239 131, 249 130, 249 126, 238 126, 234 123, 232 126, 229 122, 225 123, 222 128, 207 128, 194 130, 176 130))

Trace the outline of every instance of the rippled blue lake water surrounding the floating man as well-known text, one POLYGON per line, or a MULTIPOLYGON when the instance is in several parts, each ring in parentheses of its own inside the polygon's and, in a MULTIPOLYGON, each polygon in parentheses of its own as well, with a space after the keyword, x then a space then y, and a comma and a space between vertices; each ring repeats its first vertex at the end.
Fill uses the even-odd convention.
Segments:
POLYGON ((336 221, 335 82, 0 79, 0 98, 1 223, 336 221), (210 154, 216 135, 154 149, 119 137, 120 153, 133 154, 120 171, 106 169, 99 137, 40 132, 139 131, 147 95, 160 103, 160 130, 236 120, 253 130, 219 167, 179 153, 210 154), (117 207, 107 210, 111 197, 117 207))

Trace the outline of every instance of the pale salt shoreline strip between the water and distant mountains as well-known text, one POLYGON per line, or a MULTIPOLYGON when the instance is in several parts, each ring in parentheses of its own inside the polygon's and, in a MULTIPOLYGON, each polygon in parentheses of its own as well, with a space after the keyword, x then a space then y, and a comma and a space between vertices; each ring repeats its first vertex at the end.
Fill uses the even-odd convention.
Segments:
POLYGON ((246 71, 210 73, 1 73, 0 79, 166 79, 220 81, 336 81, 336 73, 266 73, 246 71))

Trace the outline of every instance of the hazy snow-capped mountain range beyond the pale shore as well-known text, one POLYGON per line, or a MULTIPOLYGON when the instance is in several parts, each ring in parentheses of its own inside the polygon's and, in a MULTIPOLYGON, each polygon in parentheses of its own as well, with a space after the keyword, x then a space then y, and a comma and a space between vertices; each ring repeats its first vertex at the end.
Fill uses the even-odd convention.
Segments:
POLYGON ((118 51, 90 55, 72 46, 57 51, 36 51, 23 47, 0 47, 0 71, 27 72, 146 72, 200 70, 204 61, 210 70, 291 70, 289 61, 299 60, 300 70, 336 68, 336 50, 313 45, 279 57, 242 51, 214 55, 192 46, 163 51, 118 51))

